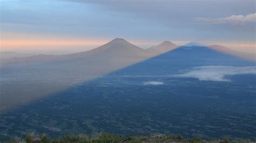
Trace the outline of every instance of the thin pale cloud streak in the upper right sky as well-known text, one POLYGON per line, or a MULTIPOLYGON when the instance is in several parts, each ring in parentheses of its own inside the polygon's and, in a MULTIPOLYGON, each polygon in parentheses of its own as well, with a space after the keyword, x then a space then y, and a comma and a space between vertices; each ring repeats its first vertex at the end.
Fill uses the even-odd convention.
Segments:
POLYGON ((256 13, 251 13, 249 15, 232 15, 225 18, 195 18, 196 22, 200 24, 234 24, 234 25, 244 25, 246 23, 256 23, 256 13))

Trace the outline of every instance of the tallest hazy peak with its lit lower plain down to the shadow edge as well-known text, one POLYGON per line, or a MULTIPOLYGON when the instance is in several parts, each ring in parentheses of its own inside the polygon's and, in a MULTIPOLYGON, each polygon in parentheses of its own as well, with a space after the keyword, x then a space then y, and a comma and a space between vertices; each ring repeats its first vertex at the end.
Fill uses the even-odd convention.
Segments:
POLYGON ((6 82, 0 82, 0 87, 12 90, 0 92, 0 111, 50 96, 152 56, 126 40, 116 38, 86 52, 1 60, 0 76, 6 82))

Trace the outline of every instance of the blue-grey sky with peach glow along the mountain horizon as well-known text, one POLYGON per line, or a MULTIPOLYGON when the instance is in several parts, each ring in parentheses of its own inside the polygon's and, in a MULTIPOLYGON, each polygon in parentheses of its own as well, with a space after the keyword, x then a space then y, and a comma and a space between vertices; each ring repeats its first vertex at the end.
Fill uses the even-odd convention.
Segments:
POLYGON ((87 51, 114 38, 256 49, 253 0, 0 0, 1 51, 87 51))

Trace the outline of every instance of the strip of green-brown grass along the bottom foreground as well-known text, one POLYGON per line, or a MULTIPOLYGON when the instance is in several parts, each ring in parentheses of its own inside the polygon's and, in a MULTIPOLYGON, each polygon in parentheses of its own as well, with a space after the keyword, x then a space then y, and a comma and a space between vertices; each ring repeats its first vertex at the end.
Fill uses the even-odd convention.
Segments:
MULTIPOLYGON (((1 142, 1 141, 0 141, 1 142)), ((130 136, 121 136, 121 135, 111 135, 109 133, 99 133, 96 137, 91 137, 86 134, 78 135, 65 135, 62 138, 51 139, 46 134, 36 135, 35 133, 29 133, 26 135, 25 139, 13 138, 8 142, 253 142, 251 140, 202 140, 199 138, 184 139, 181 135, 149 135, 141 137, 130 137, 130 136)))

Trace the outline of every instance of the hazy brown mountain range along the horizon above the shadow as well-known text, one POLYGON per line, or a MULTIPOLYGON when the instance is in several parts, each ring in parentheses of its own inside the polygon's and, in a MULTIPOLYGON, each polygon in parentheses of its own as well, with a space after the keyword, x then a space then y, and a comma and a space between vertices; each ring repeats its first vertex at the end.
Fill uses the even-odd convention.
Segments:
MULTIPOLYGON (((195 43, 190 43, 184 46, 203 46, 195 43)), ((74 59, 84 59, 91 58, 95 60, 109 60, 114 63, 117 61, 123 61, 126 63, 134 63, 138 61, 142 61, 153 56, 163 54, 173 49, 176 49, 180 46, 173 44, 171 41, 164 41, 157 46, 152 46, 148 49, 140 48, 136 45, 127 42, 124 39, 116 38, 107 44, 100 46, 95 49, 91 49, 90 51, 79 52, 74 54, 66 54, 66 55, 32 55, 29 54, 21 54, 18 52, 1 52, 1 62, 0 67, 8 66, 8 65, 28 65, 31 63, 43 63, 43 62, 52 62, 52 61, 66 61, 66 60, 74 60, 74 59), (8 58, 8 59, 7 59, 8 58)), ((237 51, 233 51, 232 49, 226 48, 224 46, 212 45, 208 48, 212 48, 215 51, 222 52, 225 54, 230 54, 234 56, 238 56, 240 58, 244 58, 251 61, 256 61, 255 53, 241 53, 237 51)))

